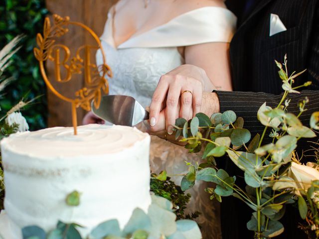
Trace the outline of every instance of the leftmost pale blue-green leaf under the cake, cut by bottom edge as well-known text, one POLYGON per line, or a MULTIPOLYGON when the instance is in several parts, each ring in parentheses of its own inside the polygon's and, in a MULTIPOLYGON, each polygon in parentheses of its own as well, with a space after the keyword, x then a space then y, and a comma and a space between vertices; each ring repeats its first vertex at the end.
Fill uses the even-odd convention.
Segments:
POLYGON ((100 223, 96 228, 90 233, 90 238, 92 239, 103 239, 106 236, 121 236, 121 230, 118 220, 112 219, 103 223, 100 223))

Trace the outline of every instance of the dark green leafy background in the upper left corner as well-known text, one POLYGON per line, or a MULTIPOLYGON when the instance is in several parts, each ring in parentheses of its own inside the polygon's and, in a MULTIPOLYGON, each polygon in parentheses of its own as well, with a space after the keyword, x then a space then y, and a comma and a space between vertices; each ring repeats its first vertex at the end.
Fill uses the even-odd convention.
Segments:
POLYGON ((0 114, 5 114, 22 98, 30 100, 42 95, 22 112, 30 130, 44 128, 47 122, 46 87, 33 56, 35 37, 43 31, 47 13, 44 0, 0 0, 0 48, 14 36, 25 35, 20 43, 21 49, 12 57, 11 66, 3 73, 6 77, 14 76, 16 80, 5 89, 5 95, 0 100, 0 114))

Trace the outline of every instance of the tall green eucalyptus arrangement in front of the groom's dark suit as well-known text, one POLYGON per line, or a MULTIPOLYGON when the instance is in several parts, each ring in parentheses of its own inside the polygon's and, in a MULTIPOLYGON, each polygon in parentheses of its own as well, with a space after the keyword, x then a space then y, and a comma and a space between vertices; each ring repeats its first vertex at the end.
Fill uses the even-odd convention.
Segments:
MULTIPOLYGON (((276 64, 285 92, 275 109, 266 103, 260 107, 257 117, 265 126, 262 135, 256 134, 251 139, 250 131, 243 128, 243 118, 237 118, 232 111, 215 113, 210 118, 199 113, 189 121, 176 119, 174 127, 176 139, 182 135, 181 141, 187 142, 185 147, 189 152, 199 153, 202 145, 206 144, 202 152, 202 158, 206 159, 206 162, 200 165, 188 163, 188 173, 181 181, 182 190, 191 188, 196 180, 212 182, 216 187, 206 189, 211 199, 216 198, 221 202, 222 197, 233 196, 243 201, 253 210, 247 228, 255 232, 257 239, 280 235, 284 226, 279 220, 285 213, 286 205, 297 199, 300 215, 305 219, 308 207, 303 195, 308 195, 311 205, 314 199, 318 200, 319 194, 319 182, 312 181, 318 178, 307 174, 301 177, 302 168, 307 166, 300 165, 299 161, 293 158, 300 138, 316 137, 311 128, 319 129, 319 112, 312 115, 311 128, 304 126, 299 119, 307 110, 308 99, 299 103, 298 116, 287 112, 290 104, 288 94, 299 93, 298 88, 309 86, 311 82, 293 87, 294 79, 303 72, 294 72, 289 76, 286 56, 283 64, 277 61, 276 64), (272 143, 263 145, 269 128, 272 143), (230 176, 225 170, 218 169, 215 157, 225 154, 243 171, 245 189, 236 184, 236 176, 230 176), (308 178, 308 182, 305 182, 305 178, 308 178)), ((314 209, 314 206, 311 209, 314 209)), ((311 215, 312 219, 318 220, 317 209, 312 210, 311 215)))

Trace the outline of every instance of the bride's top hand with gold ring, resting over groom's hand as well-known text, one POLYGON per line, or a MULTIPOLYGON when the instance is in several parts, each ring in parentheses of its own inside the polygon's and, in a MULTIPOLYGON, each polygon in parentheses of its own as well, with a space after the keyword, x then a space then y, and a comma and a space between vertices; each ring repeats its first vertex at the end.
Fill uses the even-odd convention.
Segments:
POLYGON ((160 111, 165 108, 165 128, 172 134, 175 119, 194 117, 200 112, 203 92, 213 89, 205 71, 194 65, 181 65, 161 76, 150 106, 151 130, 155 131, 152 127, 158 123, 160 111))

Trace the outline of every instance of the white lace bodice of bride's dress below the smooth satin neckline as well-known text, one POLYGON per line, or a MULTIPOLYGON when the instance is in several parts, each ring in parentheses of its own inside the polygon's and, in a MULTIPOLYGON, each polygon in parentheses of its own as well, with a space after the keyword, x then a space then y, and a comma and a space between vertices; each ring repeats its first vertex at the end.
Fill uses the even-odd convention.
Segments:
POLYGON ((143 107, 150 106, 160 76, 184 64, 176 47, 117 50, 104 41, 102 45, 113 72, 109 94, 132 96, 143 107))

